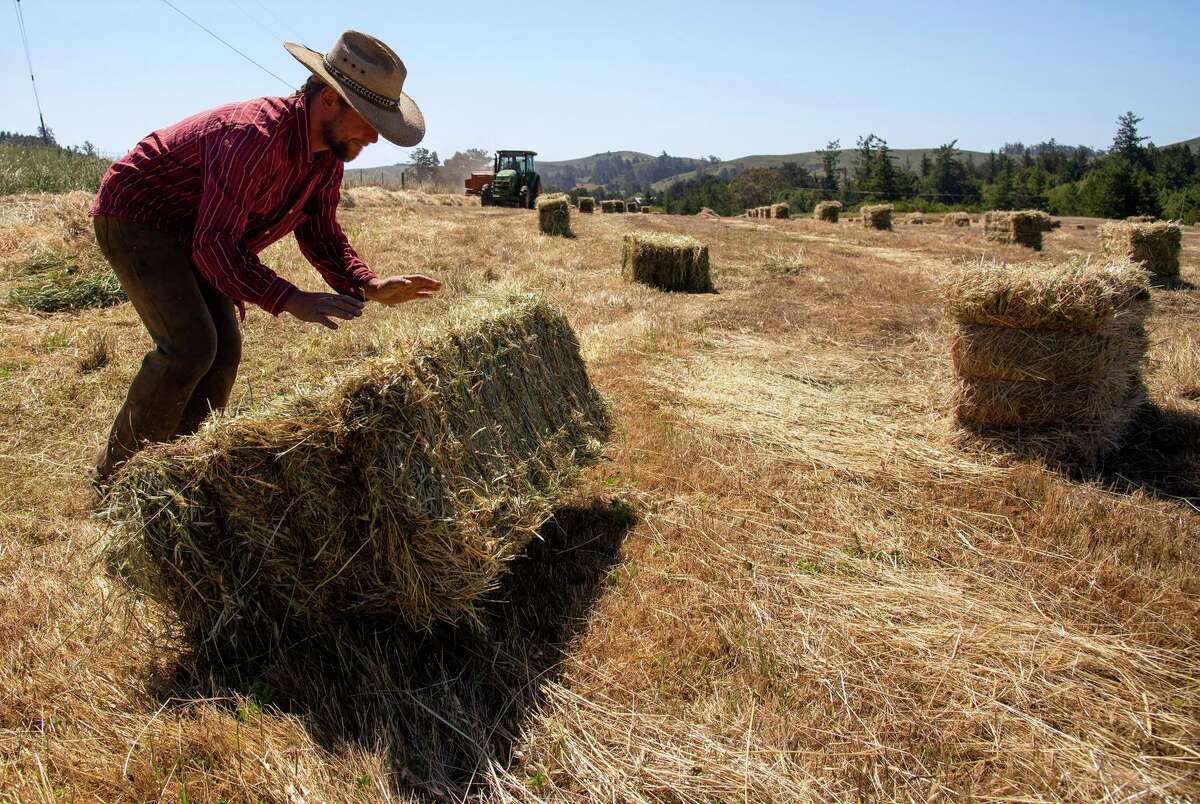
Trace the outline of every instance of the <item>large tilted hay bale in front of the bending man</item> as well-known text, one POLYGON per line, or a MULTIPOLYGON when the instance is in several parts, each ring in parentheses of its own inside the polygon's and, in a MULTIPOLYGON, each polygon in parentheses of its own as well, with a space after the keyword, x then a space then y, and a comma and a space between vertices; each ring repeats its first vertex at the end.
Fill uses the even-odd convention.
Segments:
POLYGON ((608 433, 565 317, 515 296, 138 454, 109 560, 222 646, 292 622, 478 622, 608 433))

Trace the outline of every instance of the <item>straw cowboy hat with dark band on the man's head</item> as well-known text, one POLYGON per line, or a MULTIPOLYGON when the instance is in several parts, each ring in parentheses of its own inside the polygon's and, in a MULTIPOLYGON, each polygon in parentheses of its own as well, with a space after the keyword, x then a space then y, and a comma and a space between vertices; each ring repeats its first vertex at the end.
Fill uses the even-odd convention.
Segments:
POLYGON ((403 92, 408 77, 404 62, 376 37, 346 31, 325 54, 295 42, 283 47, 385 139, 408 148, 425 137, 425 118, 403 92))

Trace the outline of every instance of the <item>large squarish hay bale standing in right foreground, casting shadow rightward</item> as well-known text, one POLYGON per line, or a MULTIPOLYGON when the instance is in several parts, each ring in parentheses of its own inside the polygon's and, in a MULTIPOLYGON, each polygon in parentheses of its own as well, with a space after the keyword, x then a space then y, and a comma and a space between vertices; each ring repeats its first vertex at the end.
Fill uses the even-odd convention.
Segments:
POLYGON ((1120 445, 1145 400, 1150 311, 1129 260, 976 263, 952 274, 946 312, 960 438, 1090 466, 1120 445))

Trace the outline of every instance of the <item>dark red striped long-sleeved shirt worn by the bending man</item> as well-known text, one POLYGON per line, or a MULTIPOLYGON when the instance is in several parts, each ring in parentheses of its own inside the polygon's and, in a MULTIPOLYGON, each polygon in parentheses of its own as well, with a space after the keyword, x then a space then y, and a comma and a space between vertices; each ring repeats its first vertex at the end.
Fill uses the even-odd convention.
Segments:
POLYGON ((149 134, 104 174, 92 215, 179 236, 214 288, 278 316, 295 286, 258 252, 295 232, 335 290, 358 294, 374 272, 337 224, 342 161, 308 150, 301 97, 260 97, 149 134))

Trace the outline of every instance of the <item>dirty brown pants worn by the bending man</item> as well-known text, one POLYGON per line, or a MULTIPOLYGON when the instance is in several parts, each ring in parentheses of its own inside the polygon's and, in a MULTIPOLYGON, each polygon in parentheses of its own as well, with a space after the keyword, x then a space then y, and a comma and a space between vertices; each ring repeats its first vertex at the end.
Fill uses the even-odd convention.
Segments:
POLYGON ((241 331, 233 301, 200 277, 174 238, 106 215, 95 226, 100 250, 155 342, 96 460, 106 479, 146 443, 193 433, 226 406, 241 331))

